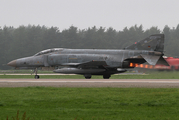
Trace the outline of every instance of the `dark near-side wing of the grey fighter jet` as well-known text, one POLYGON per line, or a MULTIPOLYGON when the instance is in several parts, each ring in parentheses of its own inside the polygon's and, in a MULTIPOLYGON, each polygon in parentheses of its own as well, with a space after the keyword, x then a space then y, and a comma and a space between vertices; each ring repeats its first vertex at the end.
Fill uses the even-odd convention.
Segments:
POLYGON ((62 66, 76 67, 76 68, 100 68, 107 66, 105 61, 89 61, 85 63, 64 63, 62 66))

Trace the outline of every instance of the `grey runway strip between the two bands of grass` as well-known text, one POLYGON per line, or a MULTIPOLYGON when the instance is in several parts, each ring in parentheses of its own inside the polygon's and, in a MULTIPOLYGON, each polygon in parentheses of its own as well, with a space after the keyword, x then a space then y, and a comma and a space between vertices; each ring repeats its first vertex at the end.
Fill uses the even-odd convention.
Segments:
POLYGON ((179 79, 0 79, 0 87, 179 87, 179 79))

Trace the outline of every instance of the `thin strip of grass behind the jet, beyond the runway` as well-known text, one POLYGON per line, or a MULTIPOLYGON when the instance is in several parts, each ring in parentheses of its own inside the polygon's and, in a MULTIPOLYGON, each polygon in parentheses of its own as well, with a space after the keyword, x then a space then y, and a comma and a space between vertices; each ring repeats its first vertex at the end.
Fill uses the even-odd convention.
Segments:
MULTIPOLYGON (((1 78, 34 78, 34 75, 0 75, 1 78)), ((41 75, 43 79, 84 79, 83 75, 41 75)), ((102 76, 92 76, 92 79, 103 79, 102 76)), ((110 79, 179 79, 179 72, 148 72, 140 75, 112 75, 110 79)))

